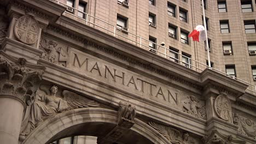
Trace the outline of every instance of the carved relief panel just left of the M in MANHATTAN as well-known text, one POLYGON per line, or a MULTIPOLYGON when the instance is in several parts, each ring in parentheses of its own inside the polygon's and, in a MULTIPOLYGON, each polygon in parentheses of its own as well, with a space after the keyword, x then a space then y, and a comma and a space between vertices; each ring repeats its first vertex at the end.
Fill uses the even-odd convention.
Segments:
POLYGON ((44 59, 45 61, 61 65, 66 67, 66 62, 69 59, 67 49, 68 47, 60 46, 53 40, 49 39, 41 39, 39 49, 43 50, 43 54, 40 58, 44 59))

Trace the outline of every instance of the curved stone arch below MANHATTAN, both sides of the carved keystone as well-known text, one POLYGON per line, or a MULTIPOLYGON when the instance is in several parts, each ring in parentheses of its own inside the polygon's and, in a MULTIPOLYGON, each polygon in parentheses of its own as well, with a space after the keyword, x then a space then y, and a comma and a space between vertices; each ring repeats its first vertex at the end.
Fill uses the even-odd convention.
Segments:
MULTIPOLYGON (((79 134, 102 136, 117 124, 117 119, 118 112, 108 109, 90 107, 69 110, 44 121, 22 143, 44 144, 62 137, 79 134), (100 131, 97 131, 99 128, 101 128, 100 131)), ((127 132, 127 135, 131 136, 133 140, 137 136, 141 141, 148 141, 148 143, 170 144, 158 131, 139 119, 135 119, 135 124, 127 132)), ((126 143, 126 139, 129 139, 127 135, 122 137, 126 143)), ((138 140, 138 142, 141 141, 138 140)))

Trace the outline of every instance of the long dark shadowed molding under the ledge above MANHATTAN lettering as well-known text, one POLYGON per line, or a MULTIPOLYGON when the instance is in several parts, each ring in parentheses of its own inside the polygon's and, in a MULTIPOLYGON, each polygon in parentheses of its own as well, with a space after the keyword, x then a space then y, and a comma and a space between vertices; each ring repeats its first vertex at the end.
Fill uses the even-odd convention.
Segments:
POLYGON ((172 75, 170 73, 167 73, 166 71, 163 71, 161 69, 154 68, 150 64, 144 64, 142 62, 139 62, 137 59, 131 58, 129 56, 125 56, 125 55, 123 55, 123 54, 121 54, 121 53, 119 53, 117 51, 114 51, 112 49, 109 49, 107 47, 100 46, 100 45, 94 43, 93 41, 89 41, 89 40, 87 40, 85 38, 82 38, 82 37, 80 37, 80 36, 78 36, 76 34, 73 34, 71 32, 64 31, 64 30, 60 29, 59 27, 55 27, 55 26, 50 25, 50 26, 48 26, 48 29, 51 30, 51 31, 54 31, 56 33, 59 33, 59 34, 65 36, 65 37, 68 37, 68 38, 71 38, 71 39, 73 39, 75 41, 78 41, 81 44, 85 44, 85 45, 90 45, 90 46, 96 47, 96 49, 98 49, 100 51, 108 53, 108 54, 110 54, 110 55, 112 55, 114 57, 123 59, 126 62, 138 65, 139 67, 143 67, 144 69, 152 71, 152 72, 154 72, 156 74, 165 76, 168 79, 171 79, 171 80, 177 81, 179 83, 182 83, 184 85, 188 85, 190 87, 196 88, 199 91, 202 90, 202 87, 199 86, 199 85, 196 85, 195 83, 189 82, 189 81, 187 81, 185 79, 182 79, 181 77, 174 76, 174 75, 172 75))

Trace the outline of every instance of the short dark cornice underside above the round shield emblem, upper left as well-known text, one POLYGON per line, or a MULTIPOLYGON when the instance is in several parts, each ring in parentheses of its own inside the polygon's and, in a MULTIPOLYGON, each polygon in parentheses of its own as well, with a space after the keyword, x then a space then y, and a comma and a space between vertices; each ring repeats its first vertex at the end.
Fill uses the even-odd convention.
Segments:
POLYGON ((48 15, 46 15, 46 14, 40 12, 40 11, 37 11, 34 8, 28 7, 25 4, 22 4, 22 3, 19 3, 19 2, 16 2, 16 1, 13 2, 12 4, 14 5, 14 7, 24 10, 25 14, 30 13, 30 14, 34 14, 35 16, 41 17, 42 19, 49 20, 48 15))

